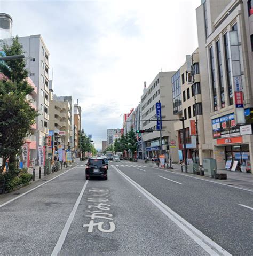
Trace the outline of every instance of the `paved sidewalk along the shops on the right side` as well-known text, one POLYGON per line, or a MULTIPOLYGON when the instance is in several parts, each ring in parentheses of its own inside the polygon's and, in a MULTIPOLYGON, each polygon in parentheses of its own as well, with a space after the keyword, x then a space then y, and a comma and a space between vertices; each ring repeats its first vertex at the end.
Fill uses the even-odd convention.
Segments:
MULTIPOLYGON (((157 165, 155 163, 152 163, 151 161, 149 163, 145 163, 144 160, 138 159, 138 162, 148 166, 157 167, 157 165)), ((178 164, 172 164, 172 167, 173 169, 165 169, 165 170, 170 170, 170 172, 175 172, 175 173, 182 173, 181 166, 179 166, 178 164)), ((157 167, 157 168, 160 168, 160 167, 157 167)), ((215 180, 207 176, 200 176, 192 173, 185 173, 185 166, 183 166, 183 172, 185 175, 198 177, 199 179, 216 181, 217 183, 222 183, 222 184, 227 184, 231 186, 253 190, 253 174, 251 173, 231 172, 230 170, 217 170, 217 173, 226 173, 227 180, 217 180, 217 179, 215 180)))

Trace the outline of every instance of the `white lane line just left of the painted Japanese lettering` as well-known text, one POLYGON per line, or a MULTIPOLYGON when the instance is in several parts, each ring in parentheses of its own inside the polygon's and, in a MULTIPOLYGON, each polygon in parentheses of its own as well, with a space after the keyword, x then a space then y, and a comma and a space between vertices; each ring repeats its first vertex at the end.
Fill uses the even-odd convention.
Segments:
POLYGON ((61 247, 64 244, 65 238, 66 238, 66 236, 68 234, 68 230, 69 230, 70 225, 71 225, 71 223, 72 223, 72 221, 74 219, 74 216, 76 214, 77 207, 80 204, 80 201, 81 201, 81 199, 83 197, 83 193, 84 193, 84 190, 86 188, 86 185, 87 185, 88 181, 89 180, 87 180, 84 183, 84 185, 83 185, 83 188, 82 188, 82 190, 81 190, 81 192, 80 192, 80 194, 79 194, 79 196, 78 196, 78 198, 76 200, 76 203, 75 203, 75 205, 74 205, 74 207, 73 207, 73 209, 72 209, 72 211, 71 211, 71 213, 70 213, 70 215, 68 217, 68 220, 67 220, 67 222, 66 222, 66 224, 64 226, 64 229, 62 229, 62 231, 61 231, 61 234, 60 234, 60 237, 59 237, 59 239, 58 239, 58 241, 56 243, 56 246, 54 246, 53 252, 51 254, 52 256, 57 256, 58 253, 61 251, 61 247))

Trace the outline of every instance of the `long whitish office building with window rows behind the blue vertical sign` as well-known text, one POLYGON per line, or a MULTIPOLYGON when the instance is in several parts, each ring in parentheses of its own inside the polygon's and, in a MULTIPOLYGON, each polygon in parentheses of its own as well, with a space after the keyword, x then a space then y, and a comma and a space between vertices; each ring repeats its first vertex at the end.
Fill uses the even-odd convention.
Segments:
MULTIPOLYGON (((152 83, 146 88, 144 85, 143 95, 141 96, 141 129, 155 130, 153 133, 143 134, 143 157, 159 156, 160 154, 160 131, 157 130, 156 103, 161 103, 162 119, 175 119, 172 104, 172 85, 171 77, 173 72, 159 72, 152 83)), ((168 153, 167 146, 169 141, 176 139, 173 121, 162 121, 162 153, 168 153)), ((167 156, 168 157, 168 156, 167 156)), ((178 161, 178 145, 171 150, 171 159, 178 161)))

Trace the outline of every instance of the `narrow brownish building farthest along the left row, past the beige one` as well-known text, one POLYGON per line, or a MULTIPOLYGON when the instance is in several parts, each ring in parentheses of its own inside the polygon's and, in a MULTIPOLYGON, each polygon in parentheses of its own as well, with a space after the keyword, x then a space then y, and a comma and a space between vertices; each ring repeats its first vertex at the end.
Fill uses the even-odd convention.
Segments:
POLYGON ((76 156, 79 156, 79 133, 81 131, 81 115, 82 110, 81 106, 78 106, 78 99, 77 104, 74 104, 74 151, 76 152, 76 156))

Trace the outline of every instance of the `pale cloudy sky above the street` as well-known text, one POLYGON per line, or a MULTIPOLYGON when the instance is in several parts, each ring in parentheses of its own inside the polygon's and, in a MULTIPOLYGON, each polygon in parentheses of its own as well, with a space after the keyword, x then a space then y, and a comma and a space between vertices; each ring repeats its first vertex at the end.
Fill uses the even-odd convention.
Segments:
POLYGON ((96 148, 107 129, 140 102, 158 72, 177 71, 197 48, 200 0, 0 0, 12 35, 41 34, 57 96, 82 107, 82 128, 96 148), (98 143, 97 143, 98 142, 98 143))

